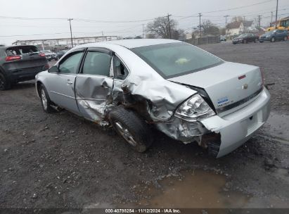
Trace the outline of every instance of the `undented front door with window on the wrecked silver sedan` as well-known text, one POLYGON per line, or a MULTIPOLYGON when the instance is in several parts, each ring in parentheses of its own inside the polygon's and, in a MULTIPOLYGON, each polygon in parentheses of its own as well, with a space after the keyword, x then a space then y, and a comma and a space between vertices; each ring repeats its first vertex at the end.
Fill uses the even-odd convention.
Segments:
POLYGON ((75 101, 75 79, 84 55, 84 49, 69 53, 58 63, 59 73, 51 73, 46 88, 51 101, 73 113, 79 114, 75 101))

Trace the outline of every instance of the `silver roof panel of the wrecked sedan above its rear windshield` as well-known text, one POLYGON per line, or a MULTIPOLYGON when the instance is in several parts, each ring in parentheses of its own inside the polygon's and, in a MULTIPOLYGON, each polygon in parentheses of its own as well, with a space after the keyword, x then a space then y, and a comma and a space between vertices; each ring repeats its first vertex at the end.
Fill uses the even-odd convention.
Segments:
POLYGON ((181 42, 174 39, 121 39, 121 40, 113 40, 108 42, 103 42, 107 44, 117 44, 120 46, 124 46, 127 49, 133 49, 141 46, 150 46, 155 44, 167 44, 173 42, 181 42))

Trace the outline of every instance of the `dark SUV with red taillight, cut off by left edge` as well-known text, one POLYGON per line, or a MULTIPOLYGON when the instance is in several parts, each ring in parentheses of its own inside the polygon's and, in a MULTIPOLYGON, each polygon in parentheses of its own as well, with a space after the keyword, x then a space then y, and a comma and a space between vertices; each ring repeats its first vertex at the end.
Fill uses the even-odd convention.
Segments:
POLYGON ((13 84, 34 80, 49 65, 36 46, 0 46, 0 90, 10 89, 13 84))

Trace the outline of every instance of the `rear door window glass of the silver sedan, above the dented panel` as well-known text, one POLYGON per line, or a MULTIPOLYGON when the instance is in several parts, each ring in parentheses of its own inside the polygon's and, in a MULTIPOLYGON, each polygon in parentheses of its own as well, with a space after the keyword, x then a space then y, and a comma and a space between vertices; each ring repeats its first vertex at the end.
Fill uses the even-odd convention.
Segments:
POLYGON ((110 76, 111 56, 108 53, 89 51, 86 54, 82 73, 110 76))

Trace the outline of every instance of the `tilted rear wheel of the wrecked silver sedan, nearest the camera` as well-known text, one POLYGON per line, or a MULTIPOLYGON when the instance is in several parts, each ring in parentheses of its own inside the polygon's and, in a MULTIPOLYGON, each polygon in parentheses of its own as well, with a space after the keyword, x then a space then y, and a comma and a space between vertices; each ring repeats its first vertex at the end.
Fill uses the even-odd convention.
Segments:
POLYGON ((110 111, 108 118, 115 131, 135 151, 144 152, 153 143, 150 127, 133 111, 119 106, 110 111))

